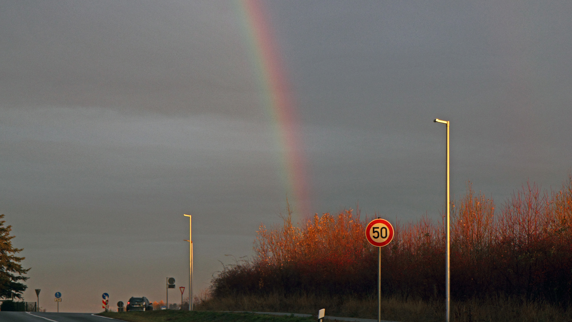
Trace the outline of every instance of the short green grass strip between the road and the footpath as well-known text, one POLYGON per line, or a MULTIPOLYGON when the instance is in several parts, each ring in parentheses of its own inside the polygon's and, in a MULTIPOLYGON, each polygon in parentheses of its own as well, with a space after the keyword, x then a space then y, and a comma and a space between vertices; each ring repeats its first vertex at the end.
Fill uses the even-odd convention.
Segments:
POLYGON ((316 322, 313 317, 178 310, 102 312, 99 315, 128 322, 316 322))

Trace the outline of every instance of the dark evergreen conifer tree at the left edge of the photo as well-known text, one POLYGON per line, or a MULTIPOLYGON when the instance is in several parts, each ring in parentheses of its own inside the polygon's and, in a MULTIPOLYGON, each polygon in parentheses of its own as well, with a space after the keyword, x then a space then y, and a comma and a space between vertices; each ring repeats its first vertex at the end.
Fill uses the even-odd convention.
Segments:
MULTIPOLYGON (((0 219, 4 215, 0 215, 0 219)), ((22 299, 22 292, 28 286, 19 282, 26 281, 28 277, 22 276, 30 269, 23 269, 22 265, 18 264, 26 257, 17 257, 16 253, 22 252, 22 248, 14 248, 12 246, 12 238, 10 231, 12 226, 4 226, 6 221, 0 221, 0 299, 11 299, 12 293, 17 299, 22 299), (17 274, 17 275, 15 275, 17 274)))

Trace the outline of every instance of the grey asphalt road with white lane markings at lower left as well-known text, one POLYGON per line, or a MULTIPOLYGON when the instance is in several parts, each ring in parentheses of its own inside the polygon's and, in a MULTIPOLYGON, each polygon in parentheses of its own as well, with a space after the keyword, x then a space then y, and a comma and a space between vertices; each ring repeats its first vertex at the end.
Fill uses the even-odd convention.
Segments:
POLYGON ((0 312, 0 322, 112 322, 92 313, 0 312))

